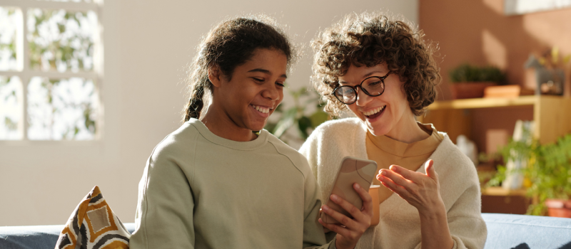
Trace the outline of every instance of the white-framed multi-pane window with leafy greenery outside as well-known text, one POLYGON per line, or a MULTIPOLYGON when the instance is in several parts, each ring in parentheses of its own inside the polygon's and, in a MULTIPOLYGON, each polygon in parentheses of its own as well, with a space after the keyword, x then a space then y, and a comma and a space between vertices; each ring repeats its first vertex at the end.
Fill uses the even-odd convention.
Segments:
POLYGON ((98 139, 101 4, 0 4, 0 140, 98 139))

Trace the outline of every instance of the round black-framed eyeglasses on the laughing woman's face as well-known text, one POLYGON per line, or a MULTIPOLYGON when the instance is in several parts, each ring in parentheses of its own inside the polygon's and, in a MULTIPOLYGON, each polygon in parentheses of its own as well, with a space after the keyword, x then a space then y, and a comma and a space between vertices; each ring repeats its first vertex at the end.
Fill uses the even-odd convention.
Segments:
POLYGON ((371 97, 377 97, 382 95, 385 92, 385 79, 391 73, 395 73, 393 71, 389 71, 385 76, 371 76, 369 78, 365 78, 363 82, 359 85, 350 86, 350 85, 342 85, 338 88, 335 88, 332 95, 335 95, 337 99, 345 105, 351 105, 355 101, 357 101, 357 88, 361 88, 366 95, 371 97))

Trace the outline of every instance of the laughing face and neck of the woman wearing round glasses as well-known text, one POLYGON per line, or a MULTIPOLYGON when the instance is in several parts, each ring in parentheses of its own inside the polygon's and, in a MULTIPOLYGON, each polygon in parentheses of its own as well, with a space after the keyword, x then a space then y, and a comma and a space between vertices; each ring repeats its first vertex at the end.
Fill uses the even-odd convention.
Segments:
MULTIPOLYGON (((385 63, 370 68, 351 65, 345 75, 339 76, 339 83, 355 86, 365 78, 384 76, 388 72, 385 63)), ((408 131, 418 129, 418 126, 408 105, 403 82, 400 81, 398 75, 391 73, 384 81, 385 92, 382 95, 371 97, 358 89, 357 101, 347 107, 375 136, 386 135, 397 139, 403 137, 408 131)))

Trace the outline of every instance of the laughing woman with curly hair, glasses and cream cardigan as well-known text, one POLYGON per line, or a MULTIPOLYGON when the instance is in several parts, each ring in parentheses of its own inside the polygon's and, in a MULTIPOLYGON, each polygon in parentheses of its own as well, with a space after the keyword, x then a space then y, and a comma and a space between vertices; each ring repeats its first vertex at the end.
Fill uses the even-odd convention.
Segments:
POLYGON ((345 16, 313 41, 313 85, 325 110, 353 118, 320 125, 300 152, 323 199, 343 157, 374 160, 380 222, 357 248, 483 248, 474 164, 432 124, 416 122, 440 82, 435 48, 404 21, 345 16), (438 174, 437 174, 438 172, 438 174))

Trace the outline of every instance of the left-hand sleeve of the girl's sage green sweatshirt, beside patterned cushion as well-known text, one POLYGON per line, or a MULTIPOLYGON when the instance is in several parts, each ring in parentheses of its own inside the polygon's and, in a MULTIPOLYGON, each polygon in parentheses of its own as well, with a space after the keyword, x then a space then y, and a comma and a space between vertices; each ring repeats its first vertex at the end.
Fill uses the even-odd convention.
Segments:
MULTIPOLYGON (((131 249, 194 248, 193 193, 172 148, 161 144, 149 157, 138 186, 136 231, 131 249)), ((188 172, 187 172, 188 173, 188 172)))

